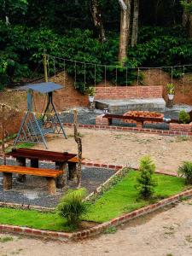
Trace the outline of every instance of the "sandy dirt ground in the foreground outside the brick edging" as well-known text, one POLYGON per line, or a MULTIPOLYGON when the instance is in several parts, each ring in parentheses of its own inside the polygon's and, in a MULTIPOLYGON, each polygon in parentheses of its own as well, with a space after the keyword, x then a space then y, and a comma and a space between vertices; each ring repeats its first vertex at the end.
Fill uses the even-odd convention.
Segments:
POLYGON ((40 241, 4 234, 0 235, 0 255, 190 256, 191 211, 192 202, 185 201, 166 211, 131 221, 114 234, 79 242, 40 241))

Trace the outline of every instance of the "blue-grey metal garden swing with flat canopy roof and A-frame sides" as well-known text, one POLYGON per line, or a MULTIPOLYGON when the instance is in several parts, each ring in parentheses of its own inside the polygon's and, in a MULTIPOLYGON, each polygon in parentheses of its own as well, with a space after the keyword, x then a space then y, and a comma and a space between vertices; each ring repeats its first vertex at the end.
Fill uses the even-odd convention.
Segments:
POLYGON ((53 92, 60 90, 62 86, 52 82, 39 84, 27 84, 19 88, 19 90, 27 91, 27 111, 20 125, 20 131, 15 139, 16 143, 43 143, 48 148, 45 135, 62 134, 66 139, 66 133, 61 119, 56 112, 53 102, 53 92), (38 116, 33 112, 33 92, 46 94, 48 101, 43 113, 38 116))

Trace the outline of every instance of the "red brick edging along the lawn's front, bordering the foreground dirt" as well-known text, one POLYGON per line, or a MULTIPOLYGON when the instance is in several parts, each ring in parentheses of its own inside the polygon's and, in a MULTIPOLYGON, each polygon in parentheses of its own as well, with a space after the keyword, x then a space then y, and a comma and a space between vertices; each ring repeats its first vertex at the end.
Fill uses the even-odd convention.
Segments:
POLYGON ((102 233, 102 231, 106 230, 108 227, 111 227, 111 226, 115 227, 115 226, 118 226, 119 224, 124 224, 125 222, 128 222, 133 218, 143 216, 150 212, 154 212, 160 209, 161 207, 166 207, 172 204, 173 202, 180 201, 183 196, 186 196, 186 197, 192 196, 192 189, 186 190, 177 195, 172 195, 171 197, 158 201, 157 203, 154 203, 147 207, 142 207, 136 211, 125 213, 119 216, 118 218, 111 219, 106 223, 98 224, 95 227, 90 228, 89 230, 82 230, 82 231, 73 232, 73 233, 65 233, 65 232, 55 232, 55 231, 49 231, 49 230, 36 230, 36 229, 30 229, 26 227, 20 227, 20 226, 9 225, 9 224, 0 224, 0 231, 16 233, 20 235, 47 237, 51 239, 58 239, 61 241, 69 241, 69 240, 74 241, 74 240, 88 238, 90 236, 96 236, 102 233))

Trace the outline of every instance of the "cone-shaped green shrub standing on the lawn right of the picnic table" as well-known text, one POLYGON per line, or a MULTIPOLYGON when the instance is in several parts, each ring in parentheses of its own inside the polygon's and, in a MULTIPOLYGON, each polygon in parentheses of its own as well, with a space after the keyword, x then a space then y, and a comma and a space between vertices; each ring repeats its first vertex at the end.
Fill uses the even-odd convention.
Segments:
POLYGON ((153 177, 155 165, 149 156, 144 156, 140 160, 139 171, 140 175, 137 177, 136 187, 139 190, 139 195, 146 200, 154 195, 154 187, 156 186, 153 177))

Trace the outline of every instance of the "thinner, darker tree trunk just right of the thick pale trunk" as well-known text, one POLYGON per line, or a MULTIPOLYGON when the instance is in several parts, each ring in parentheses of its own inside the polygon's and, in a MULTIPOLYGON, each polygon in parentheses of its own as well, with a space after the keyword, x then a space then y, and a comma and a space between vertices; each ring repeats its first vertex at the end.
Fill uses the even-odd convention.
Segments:
POLYGON ((134 47, 137 44, 139 0, 134 0, 133 4, 134 4, 134 9, 133 9, 132 36, 131 36, 131 46, 132 47, 134 47))

